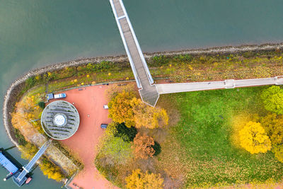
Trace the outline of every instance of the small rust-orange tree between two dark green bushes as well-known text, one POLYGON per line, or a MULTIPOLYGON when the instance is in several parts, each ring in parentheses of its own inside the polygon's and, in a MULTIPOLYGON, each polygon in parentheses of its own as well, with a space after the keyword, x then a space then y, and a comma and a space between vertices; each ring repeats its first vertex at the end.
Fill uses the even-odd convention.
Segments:
POLYGON ((141 159, 152 157, 155 153, 153 145, 154 139, 152 137, 138 133, 134 138, 134 145, 132 146, 134 156, 141 159))

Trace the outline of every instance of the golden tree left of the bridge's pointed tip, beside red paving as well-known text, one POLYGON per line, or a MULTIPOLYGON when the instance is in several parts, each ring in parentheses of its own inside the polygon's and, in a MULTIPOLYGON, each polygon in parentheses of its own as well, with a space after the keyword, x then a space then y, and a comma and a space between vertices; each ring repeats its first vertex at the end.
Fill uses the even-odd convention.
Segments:
POLYGON ((132 110, 131 101, 134 98, 134 93, 122 91, 117 93, 109 105, 109 117, 115 122, 125 122, 127 127, 134 126, 134 112, 132 110))

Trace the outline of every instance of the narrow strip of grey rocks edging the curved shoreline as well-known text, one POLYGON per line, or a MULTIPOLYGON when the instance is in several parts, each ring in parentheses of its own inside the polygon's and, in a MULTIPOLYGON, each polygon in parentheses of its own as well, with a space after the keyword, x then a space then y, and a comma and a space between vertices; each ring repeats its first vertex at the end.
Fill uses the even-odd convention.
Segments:
MULTIPOLYGON (((241 46, 229 46, 229 47, 212 47, 207 49, 197 49, 197 50, 180 50, 180 51, 170 51, 170 52, 152 52, 152 53, 144 53, 144 57, 149 59, 154 56, 166 55, 214 55, 214 54, 229 54, 229 53, 239 53, 239 52, 260 52, 265 50, 278 50, 283 48, 283 43, 278 44, 262 44, 262 45, 241 45, 241 46)), ((61 62, 57 64, 51 64, 46 67, 42 67, 40 69, 33 69, 23 76, 19 77, 11 86, 9 86, 6 95, 4 96, 4 105, 3 105, 3 121, 4 127, 8 134, 8 137, 11 139, 11 142, 19 146, 18 141, 13 133, 13 125, 11 124, 11 113, 13 111, 13 107, 18 100, 18 93, 25 86, 25 80, 30 76, 36 76, 38 74, 45 74, 47 71, 57 71, 60 69, 64 69, 65 67, 78 67, 79 65, 92 63, 99 63, 101 61, 111 61, 111 62, 127 62, 127 55, 120 56, 109 56, 109 57, 91 57, 91 58, 82 58, 76 59, 69 62, 61 62)))

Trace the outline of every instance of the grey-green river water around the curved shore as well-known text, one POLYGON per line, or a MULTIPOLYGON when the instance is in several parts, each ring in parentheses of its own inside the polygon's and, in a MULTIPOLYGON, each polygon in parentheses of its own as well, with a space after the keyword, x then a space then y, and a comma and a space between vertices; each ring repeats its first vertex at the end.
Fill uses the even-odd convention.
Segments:
MULTIPOLYGON (((280 0, 124 0, 124 4, 144 52, 283 41, 280 0)), ((108 0, 0 0, 1 99, 11 81, 30 69, 78 57, 120 54, 125 50, 108 0)), ((0 121, 0 147, 9 147, 0 121)), ((16 149, 11 154, 20 160, 16 149)), ((0 177, 5 173, 1 168, 0 177)), ((34 178, 29 188, 60 188, 38 168, 34 178)), ((0 188, 17 187, 0 181, 0 188)))

